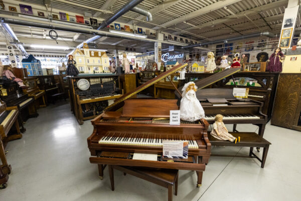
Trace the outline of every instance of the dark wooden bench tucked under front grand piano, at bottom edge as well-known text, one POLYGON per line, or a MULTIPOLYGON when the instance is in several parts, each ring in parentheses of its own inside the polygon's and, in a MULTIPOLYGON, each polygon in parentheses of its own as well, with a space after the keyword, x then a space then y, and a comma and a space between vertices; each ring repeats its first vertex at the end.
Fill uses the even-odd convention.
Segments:
POLYGON ((179 170, 148 168, 148 167, 130 167, 119 165, 108 165, 111 188, 114 190, 114 169, 144 179, 146 181, 168 188, 168 201, 173 200, 173 186, 175 185, 175 195, 178 194, 179 170))

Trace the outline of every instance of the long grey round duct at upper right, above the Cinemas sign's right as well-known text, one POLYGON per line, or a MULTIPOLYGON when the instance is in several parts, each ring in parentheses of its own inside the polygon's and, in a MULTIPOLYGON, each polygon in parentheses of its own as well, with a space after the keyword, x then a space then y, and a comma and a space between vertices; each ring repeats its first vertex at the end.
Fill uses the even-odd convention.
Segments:
POLYGON ((236 36, 233 38, 227 38, 227 39, 221 39, 221 40, 217 40, 217 41, 210 41, 210 42, 206 42, 206 43, 199 43, 199 44, 194 44, 194 45, 187 45, 184 46, 182 48, 193 48, 193 47, 200 47, 200 46, 204 46, 204 45, 211 45, 211 44, 217 44, 217 43, 224 43, 225 41, 236 41, 236 40, 243 40, 243 39, 247 39, 247 38, 253 38, 253 37, 258 37, 258 36, 267 36, 269 38, 274 38, 275 34, 270 33, 270 32, 257 32, 257 33, 253 33, 253 34, 247 34, 247 35, 242 35, 242 36, 236 36))

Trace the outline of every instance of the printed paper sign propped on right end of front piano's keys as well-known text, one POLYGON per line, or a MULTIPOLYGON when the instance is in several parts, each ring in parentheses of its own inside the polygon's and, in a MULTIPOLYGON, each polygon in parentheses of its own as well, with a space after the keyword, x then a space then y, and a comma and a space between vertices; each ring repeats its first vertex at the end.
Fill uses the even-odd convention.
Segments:
POLYGON ((163 156, 168 158, 188 158, 188 141, 163 141, 163 156))

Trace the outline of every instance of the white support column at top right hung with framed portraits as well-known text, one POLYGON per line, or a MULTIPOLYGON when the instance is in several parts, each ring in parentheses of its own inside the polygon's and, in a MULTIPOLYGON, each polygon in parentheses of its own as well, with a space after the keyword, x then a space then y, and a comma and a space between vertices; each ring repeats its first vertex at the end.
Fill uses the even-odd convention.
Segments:
POLYGON ((279 47, 289 48, 291 46, 294 27, 299 11, 298 0, 288 0, 287 8, 284 11, 282 28, 279 38, 279 47))

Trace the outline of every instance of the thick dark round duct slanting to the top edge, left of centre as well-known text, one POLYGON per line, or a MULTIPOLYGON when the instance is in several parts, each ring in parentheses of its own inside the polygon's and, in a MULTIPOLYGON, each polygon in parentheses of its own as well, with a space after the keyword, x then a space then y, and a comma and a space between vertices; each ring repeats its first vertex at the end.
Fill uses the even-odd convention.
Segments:
POLYGON ((140 4, 141 2, 143 2, 143 0, 132 0, 132 1, 128 2, 128 3, 126 3, 121 9, 119 9, 111 17, 109 17, 108 19, 104 20, 101 23, 101 25, 97 28, 97 30, 105 28, 107 25, 109 25, 112 22, 114 22, 115 20, 117 20, 120 16, 122 16, 123 14, 125 14, 126 12, 128 12, 129 10, 131 10, 132 8, 134 8, 135 6, 137 6, 138 4, 140 4))

